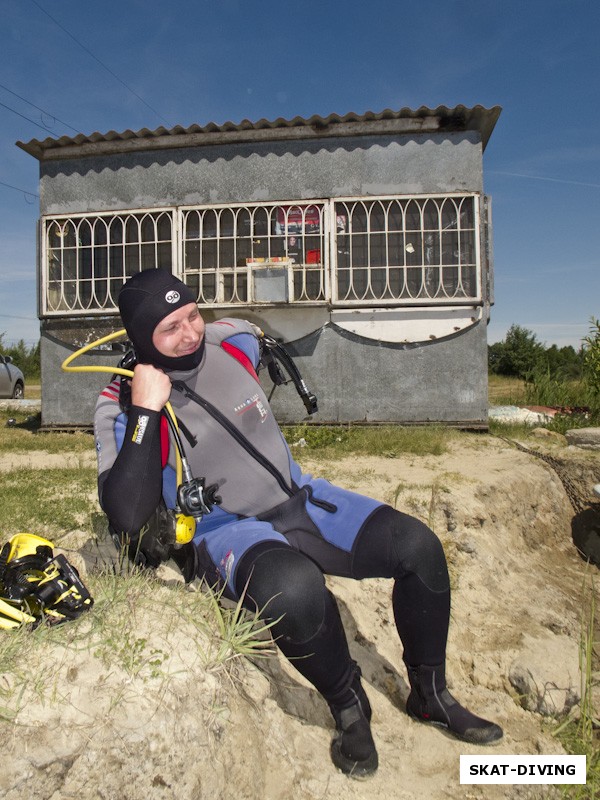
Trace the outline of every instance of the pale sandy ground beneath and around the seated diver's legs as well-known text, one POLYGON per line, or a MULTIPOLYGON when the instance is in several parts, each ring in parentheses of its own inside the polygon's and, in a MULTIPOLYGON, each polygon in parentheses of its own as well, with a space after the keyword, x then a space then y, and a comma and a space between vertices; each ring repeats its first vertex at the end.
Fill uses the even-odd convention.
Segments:
MULTIPOLYGON (((548 448, 546 442, 541 446, 548 448)), ((576 466, 580 492, 591 493, 600 480, 598 461, 589 454, 559 452, 576 466)), ((9 459, 9 468, 17 465, 13 456, 9 459)), ((48 464, 54 464, 51 458, 48 464)), ((453 584, 452 691, 502 725, 505 737, 494 754, 561 753, 552 736, 556 721, 548 713, 553 710, 559 718, 580 693, 580 618, 590 570, 573 545, 573 508, 556 472, 488 436, 466 437, 438 457, 347 458, 309 462, 305 468, 433 527, 444 543, 453 584), (519 670, 536 687, 526 697, 514 685, 519 670)), ((80 552, 89 566, 101 543, 84 540, 80 552)), ((164 577, 170 577, 168 568, 164 577)), ((139 636, 168 653, 160 679, 128 677, 118 665, 107 667, 93 652, 73 653, 66 644, 47 654, 55 676, 53 696, 40 697, 30 688, 16 720, 0 728, 5 756, 0 796, 552 796, 551 787, 461 785, 460 755, 491 751, 406 716, 407 681, 389 582, 328 580, 373 706, 380 760, 373 777, 355 781, 335 770, 329 758, 329 712, 283 659, 238 662, 232 680, 206 672, 193 630, 170 622, 157 600, 135 613, 139 636)), ((0 676, 0 687, 10 680, 0 676)))

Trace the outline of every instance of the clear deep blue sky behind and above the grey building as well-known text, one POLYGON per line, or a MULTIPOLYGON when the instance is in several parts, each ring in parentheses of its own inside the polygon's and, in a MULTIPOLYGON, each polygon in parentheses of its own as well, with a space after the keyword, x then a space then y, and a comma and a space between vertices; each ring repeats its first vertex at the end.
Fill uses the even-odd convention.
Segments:
POLYGON ((39 338, 38 162, 17 140, 422 105, 503 108, 490 342, 600 317, 600 3, 0 0, 0 333, 39 338), (14 187, 14 188, 10 188, 14 187))

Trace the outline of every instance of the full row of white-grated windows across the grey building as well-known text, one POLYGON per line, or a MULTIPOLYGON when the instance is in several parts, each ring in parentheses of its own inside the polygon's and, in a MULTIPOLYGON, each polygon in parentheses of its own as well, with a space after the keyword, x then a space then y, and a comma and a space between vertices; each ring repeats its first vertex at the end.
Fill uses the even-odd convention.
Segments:
POLYGON ((46 217, 46 315, 113 312, 165 267, 217 307, 481 301, 479 197, 415 195, 46 217), (264 292, 265 281, 279 282, 264 292))

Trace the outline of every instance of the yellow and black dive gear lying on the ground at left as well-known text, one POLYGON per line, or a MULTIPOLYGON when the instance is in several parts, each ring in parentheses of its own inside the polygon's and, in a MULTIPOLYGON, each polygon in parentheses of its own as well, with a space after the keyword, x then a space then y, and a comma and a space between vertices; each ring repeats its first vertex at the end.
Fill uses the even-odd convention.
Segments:
POLYGON ((53 547, 41 536, 18 533, 0 550, 0 629, 60 625, 94 604, 75 567, 53 547))

